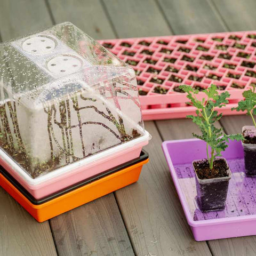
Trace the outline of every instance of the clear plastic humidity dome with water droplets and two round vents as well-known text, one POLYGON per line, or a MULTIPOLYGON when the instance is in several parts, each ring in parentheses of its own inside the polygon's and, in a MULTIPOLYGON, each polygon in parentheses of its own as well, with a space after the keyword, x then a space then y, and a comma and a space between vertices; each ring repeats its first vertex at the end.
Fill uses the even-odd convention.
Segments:
POLYGON ((133 69, 69 22, 0 44, 0 97, 2 155, 33 178, 145 135, 133 69))

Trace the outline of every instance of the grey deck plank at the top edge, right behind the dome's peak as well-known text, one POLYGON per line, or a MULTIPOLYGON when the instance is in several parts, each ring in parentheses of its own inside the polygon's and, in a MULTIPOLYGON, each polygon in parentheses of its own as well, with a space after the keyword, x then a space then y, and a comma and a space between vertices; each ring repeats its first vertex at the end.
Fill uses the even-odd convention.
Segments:
POLYGON ((49 6, 56 23, 70 21, 94 39, 115 38, 99 0, 49 0, 49 6))

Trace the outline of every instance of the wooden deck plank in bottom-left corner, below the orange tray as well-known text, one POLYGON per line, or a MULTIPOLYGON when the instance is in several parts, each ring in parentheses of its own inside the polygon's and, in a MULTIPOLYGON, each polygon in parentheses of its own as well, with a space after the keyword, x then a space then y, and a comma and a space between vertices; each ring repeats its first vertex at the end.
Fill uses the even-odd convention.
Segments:
POLYGON ((38 223, 0 188, 0 256, 57 255, 49 222, 38 223))

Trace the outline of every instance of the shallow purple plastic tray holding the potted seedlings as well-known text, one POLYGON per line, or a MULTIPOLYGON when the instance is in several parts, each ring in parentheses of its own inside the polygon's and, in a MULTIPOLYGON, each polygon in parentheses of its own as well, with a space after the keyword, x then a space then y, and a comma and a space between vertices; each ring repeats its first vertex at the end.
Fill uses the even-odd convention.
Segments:
POLYGON ((256 178, 244 174, 241 142, 230 141, 223 153, 230 166, 226 208, 201 212, 196 204, 192 162, 206 157, 206 143, 198 139, 165 141, 162 145, 174 185, 196 241, 256 235, 256 178))

